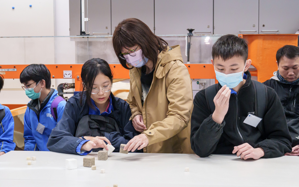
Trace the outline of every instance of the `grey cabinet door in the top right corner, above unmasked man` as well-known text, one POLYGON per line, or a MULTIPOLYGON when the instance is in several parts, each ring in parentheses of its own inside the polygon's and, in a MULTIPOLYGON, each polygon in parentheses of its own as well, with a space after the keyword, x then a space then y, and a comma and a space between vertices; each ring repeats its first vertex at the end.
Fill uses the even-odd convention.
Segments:
POLYGON ((259 34, 295 34, 299 29, 298 0, 260 0, 259 34))

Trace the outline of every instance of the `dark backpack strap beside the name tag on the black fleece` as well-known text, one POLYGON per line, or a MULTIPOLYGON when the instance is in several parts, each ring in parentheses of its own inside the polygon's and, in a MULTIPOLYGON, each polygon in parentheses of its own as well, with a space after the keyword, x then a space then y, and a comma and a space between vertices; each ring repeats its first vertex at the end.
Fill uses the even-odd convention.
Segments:
POLYGON ((255 109, 255 116, 262 118, 262 120, 258 124, 259 131, 262 135, 265 136, 265 129, 263 126, 264 116, 267 112, 267 105, 268 105, 268 90, 266 85, 251 80, 254 88, 254 109, 255 109))

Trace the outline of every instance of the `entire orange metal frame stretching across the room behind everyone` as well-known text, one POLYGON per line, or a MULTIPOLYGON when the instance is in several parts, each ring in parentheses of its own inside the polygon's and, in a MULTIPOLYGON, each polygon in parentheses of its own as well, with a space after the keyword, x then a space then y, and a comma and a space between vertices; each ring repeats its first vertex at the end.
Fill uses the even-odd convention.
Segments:
MULTIPOLYGON (((276 51, 284 45, 298 45, 297 34, 255 34, 239 35, 248 41, 248 59, 252 60, 252 65, 257 69, 252 71, 252 76, 257 76, 259 82, 264 82, 273 76, 276 71, 276 51)), ((80 90, 81 69, 83 64, 48 64, 47 68, 51 72, 52 79, 63 79, 64 70, 72 71, 72 79, 75 80, 75 91, 80 90)), ((212 64, 185 64, 191 79, 215 79, 216 75, 212 64)), ((21 71, 27 65, 0 65, 0 69, 16 69, 16 71, 1 71, 5 79, 18 79, 21 71)), ((120 64, 111 64, 114 79, 129 79, 129 70, 120 64)), ((66 80, 67 82, 67 80, 66 80)))

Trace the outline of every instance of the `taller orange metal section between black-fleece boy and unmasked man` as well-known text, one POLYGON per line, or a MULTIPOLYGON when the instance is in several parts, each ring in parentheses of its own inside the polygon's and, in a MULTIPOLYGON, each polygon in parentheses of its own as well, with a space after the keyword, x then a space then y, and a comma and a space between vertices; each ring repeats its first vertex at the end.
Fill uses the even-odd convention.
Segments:
POLYGON ((248 59, 257 69, 251 74, 257 76, 259 82, 270 79, 278 70, 276 52, 279 48, 284 45, 298 46, 297 34, 240 34, 239 37, 248 42, 248 59))

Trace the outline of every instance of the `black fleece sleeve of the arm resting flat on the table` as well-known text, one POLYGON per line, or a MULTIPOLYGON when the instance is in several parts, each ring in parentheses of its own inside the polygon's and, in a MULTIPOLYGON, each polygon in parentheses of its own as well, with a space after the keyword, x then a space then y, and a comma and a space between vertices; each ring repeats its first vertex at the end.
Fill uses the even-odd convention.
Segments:
POLYGON ((264 150, 263 158, 275 158, 292 151, 292 138, 287 128, 287 120, 278 95, 272 88, 268 90, 267 113, 264 116, 266 140, 255 145, 264 150))

